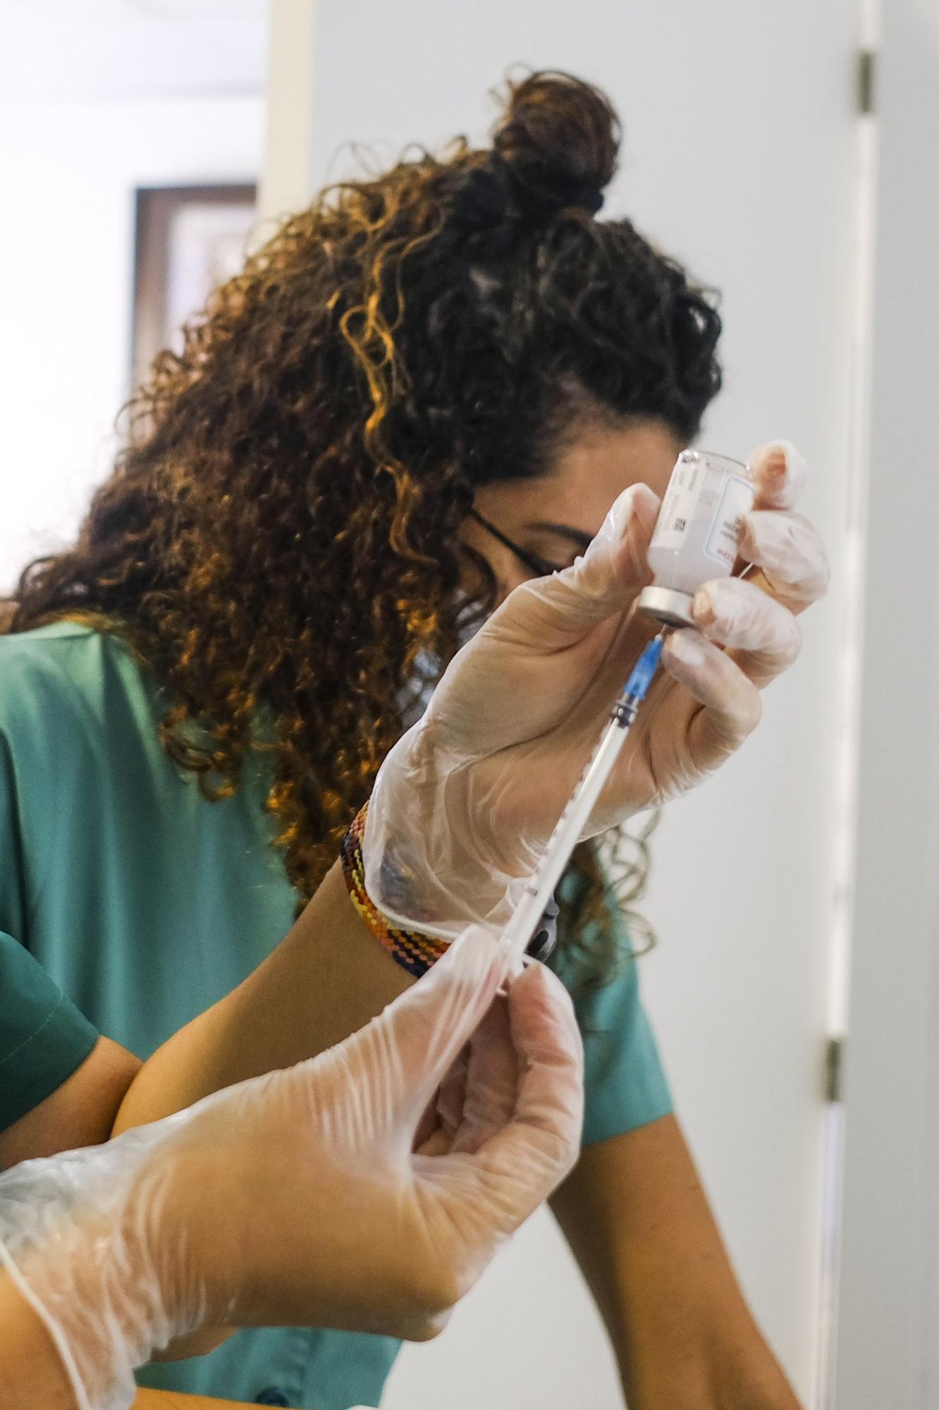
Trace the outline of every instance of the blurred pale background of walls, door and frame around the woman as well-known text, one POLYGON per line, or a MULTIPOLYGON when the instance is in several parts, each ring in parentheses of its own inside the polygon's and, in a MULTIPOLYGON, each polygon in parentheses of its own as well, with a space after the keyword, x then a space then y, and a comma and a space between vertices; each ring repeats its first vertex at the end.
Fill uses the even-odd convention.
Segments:
MULTIPOLYGON (((722 290, 704 443, 794 440, 833 565, 756 739, 654 838, 646 1001, 805 1404, 939 1406, 935 0, 0 0, 0 28, 3 589, 73 534, 134 368, 354 144, 482 141, 513 66, 610 94, 605 214, 722 290)), ((547 1213, 385 1403, 622 1404, 547 1213)))

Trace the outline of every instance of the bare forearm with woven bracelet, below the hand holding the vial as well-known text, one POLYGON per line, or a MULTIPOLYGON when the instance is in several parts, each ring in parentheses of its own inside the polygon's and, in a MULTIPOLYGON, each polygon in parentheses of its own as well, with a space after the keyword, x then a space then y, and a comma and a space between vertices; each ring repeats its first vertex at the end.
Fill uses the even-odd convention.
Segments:
POLYGON ((358 916, 337 863, 274 953, 144 1063, 114 1134, 313 1058, 379 1014, 409 983, 358 916))

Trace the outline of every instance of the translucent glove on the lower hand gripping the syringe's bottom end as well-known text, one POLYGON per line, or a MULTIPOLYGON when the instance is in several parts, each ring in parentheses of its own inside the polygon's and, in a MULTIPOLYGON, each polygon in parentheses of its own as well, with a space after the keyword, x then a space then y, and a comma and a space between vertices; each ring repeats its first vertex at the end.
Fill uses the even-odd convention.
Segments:
POLYGON ((533 964, 488 1015, 506 966, 472 931, 319 1058, 0 1177, 0 1256, 80 1410, 130 1406, 133 1368, 203 1324, 440 1330, 577 1156, 571 1001, 533 964), (415 1151, 467 1043, 461 1101, 415 1151))

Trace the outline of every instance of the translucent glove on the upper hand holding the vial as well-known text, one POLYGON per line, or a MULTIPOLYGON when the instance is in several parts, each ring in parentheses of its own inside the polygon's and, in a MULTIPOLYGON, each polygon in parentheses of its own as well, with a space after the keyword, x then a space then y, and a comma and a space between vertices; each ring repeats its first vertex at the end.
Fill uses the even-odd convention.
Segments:
MULTIPOLYGON (((705 585, 704 633, 674 633, 584 838, 685 792, 760 719, 760 688, 792 664, 795 613, 828 585, 825 550, 794 513, 804 462, 785 443, 750 460, 757 494, 740 551, 759 571, 705 585), (729 650, 722 650, 728 647, 729 650)), ((382 764, 362 857, 375 905, 406 929, 454 939, 502 929, 657 630, 632 608, 650 581, 660 501, 619 496, 587 554, 516 588, 444 673, 424 716, 382 764)))

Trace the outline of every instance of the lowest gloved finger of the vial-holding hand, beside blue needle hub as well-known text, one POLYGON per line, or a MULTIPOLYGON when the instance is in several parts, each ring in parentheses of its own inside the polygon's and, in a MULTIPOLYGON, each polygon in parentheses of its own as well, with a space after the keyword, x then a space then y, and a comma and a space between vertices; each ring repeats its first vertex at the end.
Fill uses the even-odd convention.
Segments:
MULTIPOLYGON (((689 726, 689 757, 716 768, 760 722, 760 692, 737 663, 699 632, 674 632, 663 666, 704 705, 689 726)), ((695 783, 696 780, 688 780, 695 783)))

